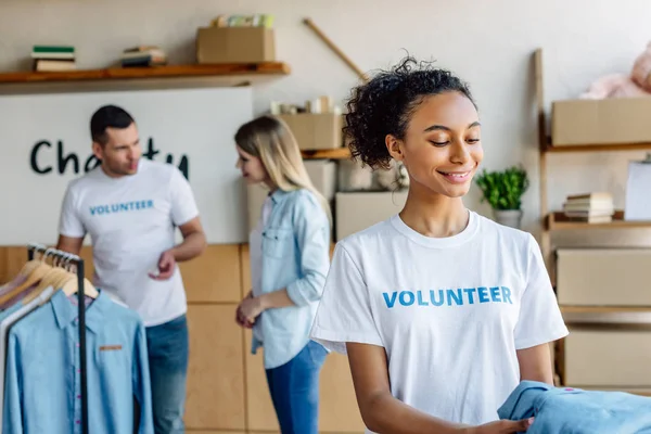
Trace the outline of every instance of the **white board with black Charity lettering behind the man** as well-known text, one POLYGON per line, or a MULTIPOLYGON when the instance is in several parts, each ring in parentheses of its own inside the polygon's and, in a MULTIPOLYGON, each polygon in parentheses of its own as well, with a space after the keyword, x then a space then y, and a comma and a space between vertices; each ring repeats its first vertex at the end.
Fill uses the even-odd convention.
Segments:
POLYGON ((0 245, 56 242, 67 183, 98 163, 89 123, 105 104, 133 116, 143 157, 187 175, 209 243, 246 240, 233 136, 252 89, 217 88, 0 97, 0 245))

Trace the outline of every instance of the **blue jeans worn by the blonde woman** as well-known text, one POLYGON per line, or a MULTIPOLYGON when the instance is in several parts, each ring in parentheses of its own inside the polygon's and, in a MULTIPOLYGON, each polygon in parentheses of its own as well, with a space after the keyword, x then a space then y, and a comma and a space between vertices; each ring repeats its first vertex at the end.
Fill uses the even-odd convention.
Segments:
POLYGON ((314 341, 292 360, 267 370, 267 382, 282 434, 319 432, 319 374, 328 352, 314 341))

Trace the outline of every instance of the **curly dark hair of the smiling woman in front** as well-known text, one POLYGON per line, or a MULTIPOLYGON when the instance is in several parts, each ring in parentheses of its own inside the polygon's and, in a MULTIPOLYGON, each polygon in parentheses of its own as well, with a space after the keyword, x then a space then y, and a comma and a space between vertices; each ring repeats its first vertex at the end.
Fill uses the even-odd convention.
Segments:
MULTIPOLYGON (((390 71, 382 71, 357 86, 346 102, 344 135, 354 158, 372 168, 387 168, 391 155, 385 137, 405 138, 411 115, 430 95, 461 92, 474 104, 468 84, 431 62, 407 56, 390 71)), ((475 105, 476 106, 476 105, 475 105)))

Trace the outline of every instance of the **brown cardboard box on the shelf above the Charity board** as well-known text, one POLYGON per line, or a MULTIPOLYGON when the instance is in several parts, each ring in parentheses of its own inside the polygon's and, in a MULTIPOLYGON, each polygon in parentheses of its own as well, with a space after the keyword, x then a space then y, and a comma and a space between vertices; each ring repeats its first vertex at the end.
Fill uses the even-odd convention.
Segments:
POLYGON ((259 63, 276 61, 272 28, 204 27, 196 34, 199 63, 259 63))

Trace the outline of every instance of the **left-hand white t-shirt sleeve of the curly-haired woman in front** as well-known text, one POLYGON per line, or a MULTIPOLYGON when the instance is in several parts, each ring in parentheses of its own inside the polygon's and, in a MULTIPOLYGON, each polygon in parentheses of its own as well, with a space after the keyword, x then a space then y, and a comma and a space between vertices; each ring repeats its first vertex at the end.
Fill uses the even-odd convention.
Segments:
POLYGON ((342 354, 347 342, 384 346, 361 271, 341 242, 334 248, 310 337, 342 354))

